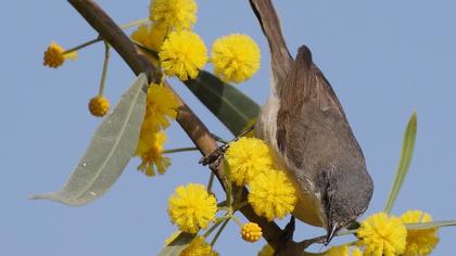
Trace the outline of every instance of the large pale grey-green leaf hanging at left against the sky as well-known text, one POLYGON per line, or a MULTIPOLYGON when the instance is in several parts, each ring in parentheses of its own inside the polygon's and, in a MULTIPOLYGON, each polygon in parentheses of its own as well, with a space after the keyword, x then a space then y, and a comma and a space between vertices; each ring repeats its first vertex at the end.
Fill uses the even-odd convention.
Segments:
POLYGON ((145 111, 148 78, 140 74, 113 113, 98 127, 89 148, 61 191, 36 194, 66 205, 87 204, 107 191, 134 155, 145 111))

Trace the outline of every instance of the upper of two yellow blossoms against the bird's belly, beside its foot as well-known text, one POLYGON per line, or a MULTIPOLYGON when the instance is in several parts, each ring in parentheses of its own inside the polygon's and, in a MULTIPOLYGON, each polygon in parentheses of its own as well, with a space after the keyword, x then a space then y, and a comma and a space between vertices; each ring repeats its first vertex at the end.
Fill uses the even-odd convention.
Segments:
POLYGON ((259 139, 242 137, 228 148, 225 158, 232 181, 243 185, 258 174, 270 169, 273 158, 269 148, 259 139))

